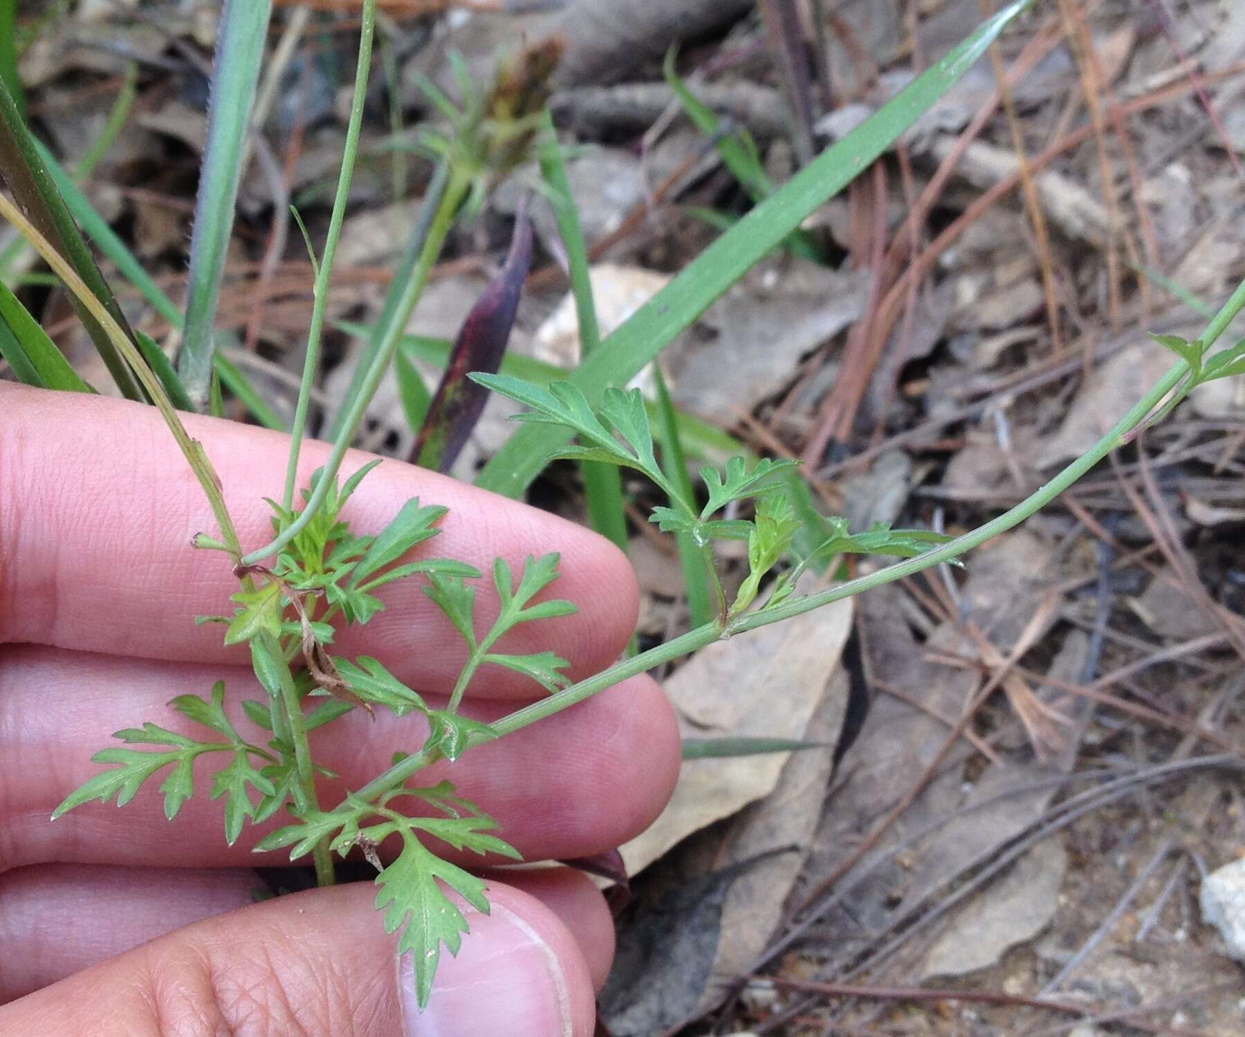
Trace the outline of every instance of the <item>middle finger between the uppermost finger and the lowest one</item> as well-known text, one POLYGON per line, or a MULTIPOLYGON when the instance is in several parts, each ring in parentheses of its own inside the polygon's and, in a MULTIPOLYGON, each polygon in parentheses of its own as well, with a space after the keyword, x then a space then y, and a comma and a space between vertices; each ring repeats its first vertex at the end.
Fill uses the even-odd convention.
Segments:
MULTIPOLYGON (((223 800, 212 800, 210 773, 227 757, 204 756, 195 766, 195 795, 176 820, 164 819, 162 776, 149 779, 123 809, 87 803, 49 822, 70 792, 97 774, 91 756, 118 744, 112 732, 152 721, 190 737, 214 739, 164 706, 174 695, 204 692, 227 677, 227 703, 243 737, 270 737, 245 717, 243 698, 266 700, 242 669, 173 665, 59 649, 10 647, 0 656, 0 868, 47 860, 82 864, 229 866, 284 864, 288 852, 263 856, 250 848, 286 823, 248 827, 228 847, 223 800)), ((472 715, 496 720, 500 702, 471 705, 472 715)), ((417 749, 427 726, 415 715, 380 711, 375 721, 355 711, 312 732, 312 754, 339 777, 320 782, 330 808, 385 771, 397 751, 417 749)), ((647 677, 626 681, 573 710, 498 742, 471 749, 457 763, 420 773, 421 784, 442 779, 479 803, 500 823, 498 834, 524 859, 586 856, 611 849, 642 830, 665 805, 679 771, 679 731, 661 690, 647 677)), ((469 863, 482 863, 468 854, 469 863)))

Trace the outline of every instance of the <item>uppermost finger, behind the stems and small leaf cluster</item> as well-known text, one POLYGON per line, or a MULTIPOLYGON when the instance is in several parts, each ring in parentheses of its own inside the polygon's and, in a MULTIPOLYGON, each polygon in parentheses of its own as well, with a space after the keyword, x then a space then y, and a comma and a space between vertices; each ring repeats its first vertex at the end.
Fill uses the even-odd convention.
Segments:
MULTIPOLYGON (((214 532, 212 513, 157 411, 7 385, 0 400, 0 642, 244 662, 244 647, 223 646, 220 626, 193 622, 232 614, 238 581, 227 555, 189 547, 195 533, 214 532)), ((242 543, 266 543, 271 510, 264 498, 280 495, 288 438, 202 416, 183 420, 224 483, 242 543)), ((300 486, 327 453, 325 443, 305 444, 300 486)), ((342 477, 370 459, 352 452, 342 477)), ((491 573, 500 555, 518 573, 527 555, 560 551, 564 575, 547 594, 574 601, 579 614, 524 624, 500 651, 552 650, 580 676, 618 657, 639 598, 626 559, 609 542, 400 461, 369 474, 344 514, 355 533, 377 533, 412 497, 449 508, 420 556, 456 558, 491 573)), ((448 692, 464 657, 462 639, 420 580, 383 588, 385 611, 347 632, 337 650, 380 656, 403 680, 448 692)), ((477 627, 484 627, 497 614, 491 580, 477 596, 477 627)), ((477 683, 489 695, 532 695, 523 677, 488 670, 477 683)))

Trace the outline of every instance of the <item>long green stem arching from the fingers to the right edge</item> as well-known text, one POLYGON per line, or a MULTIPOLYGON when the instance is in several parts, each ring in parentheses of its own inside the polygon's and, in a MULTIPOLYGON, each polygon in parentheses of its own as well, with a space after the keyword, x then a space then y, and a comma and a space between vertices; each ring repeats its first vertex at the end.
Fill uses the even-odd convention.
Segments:
MULTIPOLYGON (((1211 320, 1208 325, 1205 332, 1200 336, 1206 344, 1206 349, 1209 349, 1224 332, 1243 307, 1245 307, 1245 281, 1241 281, 1236 291, 1233 293, 1231 299, 1224 304, 1223 309, 1220 309, 1214 320, 1211 320)), ((768 626, 773 622, 793 619, 794 616, 803 615, 804 612, 810 612, 813 609, 819 609, 823 605, 829 605, 844 598, 853 598, 867 590, 873 590, 874 588, 883 586, 884 584, 901 580, 904 576, 910 576, 914 573, 920 573, 933 565, 959 558, 965 551, 980 547, 986 540, 990 540, 1000 533, 1005 533, 1006 530, 1022 523, 1040 508, 1045 507, 1063 493, 1063 490, 1071 487, 1113 449, 1120 447, 1127 441, 1128 433, 1145 421, 1150 412, 1163 401, 1163 397, 1178 386, 1188 372, 1189 365, 1183 360, 1179 361, 1174 367, 1172 367, 1170 371, 1167 372, 1167 375, 1163 376, 1159 383, 1155 385, 1154 388, 1152 388, 1137 403, 1135 407, 1133 407, 1116 423, 1114 428, 1112 428, 1098 441, 1097 444, 1094 444, 1088 453, 1068 464, 1067 468, 1059 472, 1058 476, 1046 483, 1041 489, 1036 490, 1026 500, 979 529, 965 533, 962 537, 957 537, 956 539, 950 540, 933 550, 925 551, 916 558, 905 559, 904 561, 894 565, 888 565, 885 569, 879 569, 876 573, 870 573, 869 575, 860 576, 855 580, 848 580, 847 583, 839 584, 838 586, 830 588, 820 594, 806 595, 771 609, 761 609, 754 612, 748 612, 732 619, 727 624, 715 621, 698 626, 672 641, 667 641, 665 645, 659 645, 657 647, 650 649, 641 655, 624 660, 622 662, 611 666, 609 670, 603 670, 600 673, 589 677, 588 680, 571 685, 568 688, 563 688, 561 691, 550 695, 548 698, 542 698, 539 702, 533 702, 530 706, 525 706, 522 710, 502 717, 502 720, 492 725, 493 731, 498 737, 513 734, 515 731, 522 731, 524 727, 529 727, 538 721, 547 720, 554 713, 560 713, 563 710, 575 706, 585 698, 590 698, 606 688, 614 687, 614 685, 625 681, 629 677, 635 677, 640 673, 647 672, 655 666, 661 666, 662 664, 679 659, 682 655, 698 651, 720 639, 731 637, 736 634, 743 634, 748 630, 756 630, 761 626, 768 626)), ((468 736, 468 747, 481 744, 483 741, 486 739, 477 736, 468 736)), ((359 795, 364 799, 374 799, 377 795, 397 788, 412 774, 432 763, 436 758, 436 754, 426 752, 408 756, 383 774, 369 782, 362 789, 360 789, 359 795)), ((355 808, 349 804, 340 804, 336 809, 342 813, 349 813, 355 808)))

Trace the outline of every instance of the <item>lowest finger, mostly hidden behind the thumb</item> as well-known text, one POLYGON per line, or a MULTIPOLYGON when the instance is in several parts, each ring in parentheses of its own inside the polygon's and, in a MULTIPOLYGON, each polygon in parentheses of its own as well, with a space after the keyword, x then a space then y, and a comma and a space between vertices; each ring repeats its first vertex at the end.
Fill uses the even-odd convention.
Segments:
MULTIPOLYGON (((569 868, 494 875, 566 926, 596 988, 614 952, 614 924, 586 876, 569 868)), ((0 1003, 22 997, 190 922, 255 903, 250 869, 45 864, 0 875, 0 1003)))

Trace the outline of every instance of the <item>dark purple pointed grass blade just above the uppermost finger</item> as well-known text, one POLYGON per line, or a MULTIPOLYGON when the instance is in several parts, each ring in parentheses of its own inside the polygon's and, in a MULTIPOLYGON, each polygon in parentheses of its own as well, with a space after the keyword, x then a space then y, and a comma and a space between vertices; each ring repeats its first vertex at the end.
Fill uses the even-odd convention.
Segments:
POLYGON ((524 208, 520 205, 505 265, 467 314, 432 406, 415 438, 411 461, 423 468, 448 472, 484 411, 488 390, 467 375, 494 375, 502 366, 519 311, 523 283, 532 266, 532 222, 524 208))

